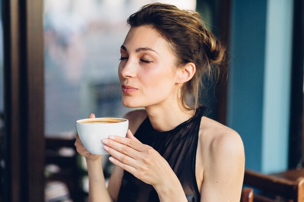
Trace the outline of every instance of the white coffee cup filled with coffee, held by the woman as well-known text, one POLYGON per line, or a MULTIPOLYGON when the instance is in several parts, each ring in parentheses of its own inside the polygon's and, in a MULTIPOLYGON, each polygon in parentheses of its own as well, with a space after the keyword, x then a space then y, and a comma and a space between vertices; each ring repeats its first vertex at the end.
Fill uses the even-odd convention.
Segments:
POLYGON ((129 121, 122 118, 91 118, 76 121, 77 132, 85 149, 94 155, 107 155, 102 139, 110 135, 125 137, 129 121))

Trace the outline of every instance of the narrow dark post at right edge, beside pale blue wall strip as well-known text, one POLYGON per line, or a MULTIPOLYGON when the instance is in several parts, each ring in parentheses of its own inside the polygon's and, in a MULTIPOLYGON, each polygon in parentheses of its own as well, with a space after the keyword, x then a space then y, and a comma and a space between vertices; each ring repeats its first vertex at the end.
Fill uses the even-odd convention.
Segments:
POLYGON ((304 2, 294 0, 289 129, 289 168, 304 166, 304 2))

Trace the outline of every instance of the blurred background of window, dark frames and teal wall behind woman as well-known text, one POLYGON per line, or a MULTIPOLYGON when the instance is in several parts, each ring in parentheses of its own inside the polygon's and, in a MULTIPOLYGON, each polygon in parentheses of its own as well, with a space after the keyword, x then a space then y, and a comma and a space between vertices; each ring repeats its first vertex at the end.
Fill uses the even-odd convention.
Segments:
POLYGON ((119 47, 127 18, 152 2, 198 11, 227 46, 228 68, 201 99, 242 137, 246 169, 302 169, 302 0, 0 0, 0 202, 87 201, 75 121, 133 110, 119 47))

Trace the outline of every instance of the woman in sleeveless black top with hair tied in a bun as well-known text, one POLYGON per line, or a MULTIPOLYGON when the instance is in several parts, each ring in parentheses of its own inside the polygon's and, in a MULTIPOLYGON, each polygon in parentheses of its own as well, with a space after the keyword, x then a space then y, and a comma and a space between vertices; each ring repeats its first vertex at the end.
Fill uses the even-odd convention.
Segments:
MULTIPOLYGON (((86 158, 90 202, 239 202, 244 148, 232 129, 203 116, 200 81, 213 77, 224 48, 197 12, 143 6, 120 47, 126 138, 101 140, 114 171, 106 188, 101 156, 86 158), (135 134, 135 135, 133 135, 135 134)), ((91 114, 89 118, 94 118, 91 114)))

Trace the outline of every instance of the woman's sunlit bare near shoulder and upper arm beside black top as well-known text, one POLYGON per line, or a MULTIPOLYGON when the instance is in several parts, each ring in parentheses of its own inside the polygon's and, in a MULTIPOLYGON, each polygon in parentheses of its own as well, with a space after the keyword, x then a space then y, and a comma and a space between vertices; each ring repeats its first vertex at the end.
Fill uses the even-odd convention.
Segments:
POLYGON ((201 201, 237 202, 244 179, 245 154, 233 129, 202 117, 199 145, 203 182, 201 201))

